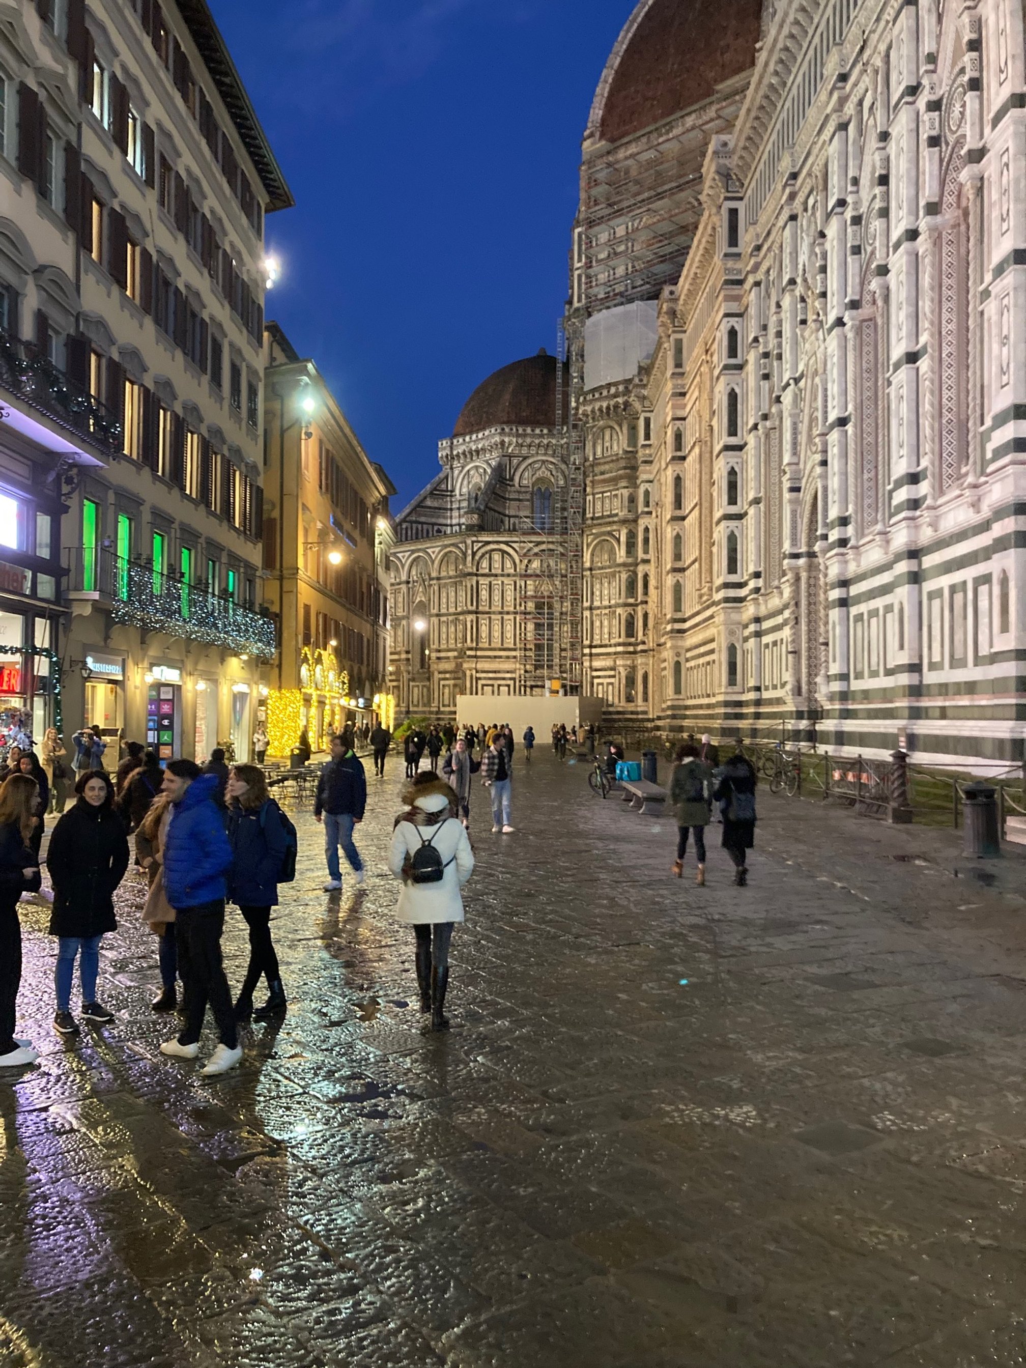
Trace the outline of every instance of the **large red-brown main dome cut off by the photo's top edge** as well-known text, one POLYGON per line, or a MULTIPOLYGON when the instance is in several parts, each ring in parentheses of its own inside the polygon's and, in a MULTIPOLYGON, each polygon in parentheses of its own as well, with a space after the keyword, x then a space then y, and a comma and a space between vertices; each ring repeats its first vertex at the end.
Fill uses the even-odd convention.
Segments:
POLYGON ((618 142, 755 66, 762 0, 640 0, 602 75, 588 134, 618 142))

